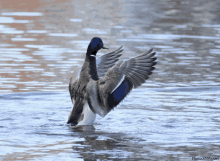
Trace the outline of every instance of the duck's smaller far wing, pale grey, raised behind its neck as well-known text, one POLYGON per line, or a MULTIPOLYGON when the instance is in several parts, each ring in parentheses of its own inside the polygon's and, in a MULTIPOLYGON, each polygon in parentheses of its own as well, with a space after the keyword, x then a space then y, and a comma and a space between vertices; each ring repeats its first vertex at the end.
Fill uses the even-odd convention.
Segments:
POLYGON ((123 51, 121 48, 122 46, 115 51, 99 57, 96 62, 99 79, 101 79, 106 74, 106 72, 119 60, 118 58, 122 55, 121 52, 123 51))

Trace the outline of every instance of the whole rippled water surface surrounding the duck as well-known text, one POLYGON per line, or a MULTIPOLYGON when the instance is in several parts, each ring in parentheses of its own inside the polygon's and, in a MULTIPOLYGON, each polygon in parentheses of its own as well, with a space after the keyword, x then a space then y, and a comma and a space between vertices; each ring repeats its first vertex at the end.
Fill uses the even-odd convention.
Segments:
POLYGON ((217 0, 2 2, 0 160, 220 157, 219 8, 217 0), (71 128, 69 78, 94 36, 111 50, 123 45, 123 58, 153 47, 158 64, 105 118, 71 128))

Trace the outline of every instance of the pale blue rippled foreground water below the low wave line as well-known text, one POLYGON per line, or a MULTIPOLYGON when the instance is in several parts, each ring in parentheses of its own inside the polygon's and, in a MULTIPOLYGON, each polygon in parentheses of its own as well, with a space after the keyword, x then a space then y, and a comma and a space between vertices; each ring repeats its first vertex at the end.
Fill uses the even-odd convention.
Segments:
POLYGON ((210 151, 216 156, 218 98, 218 87, 137 89, 94 126, 72 128, 65 124, 71 108, 67 92, 4 94, 0 156, 189 160, 210 151))

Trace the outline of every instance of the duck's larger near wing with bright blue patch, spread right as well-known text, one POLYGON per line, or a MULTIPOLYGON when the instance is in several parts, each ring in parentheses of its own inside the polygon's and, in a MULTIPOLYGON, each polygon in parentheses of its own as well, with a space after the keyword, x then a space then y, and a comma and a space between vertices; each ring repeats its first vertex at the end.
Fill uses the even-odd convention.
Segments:
POLYGON ((156 65, 157 58, 154 57, 156 53, 152 51, 153 49, 150 49, 145 54, 118 62, 102 79, 97 83, 94 82, 91 89, 96 86, 98 90, 88 90, 90 108, 104 117, 124 99, 132 88, 137 88, 144 83, 155 69, 153 66, 156 65), (94 92, 97 92, 97 97, 92 98, 94 92))

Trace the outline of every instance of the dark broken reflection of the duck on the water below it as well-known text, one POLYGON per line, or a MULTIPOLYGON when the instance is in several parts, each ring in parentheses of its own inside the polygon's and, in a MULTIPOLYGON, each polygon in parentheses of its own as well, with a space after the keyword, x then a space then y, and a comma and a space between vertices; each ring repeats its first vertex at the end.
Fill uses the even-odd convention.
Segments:
POLYGON ((72 146, 73 151, 77 151, 84 160, 120 158, 130 153, 125 149, 126 145, 121 144, 125 136, 122 133, 98 131, 94 126, 70 127, 70 130, 73 137, 84 138, 83 141, 73 142, 72 146))

